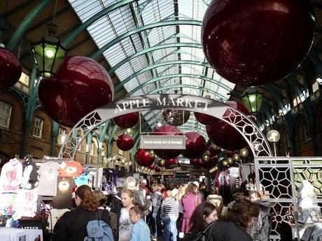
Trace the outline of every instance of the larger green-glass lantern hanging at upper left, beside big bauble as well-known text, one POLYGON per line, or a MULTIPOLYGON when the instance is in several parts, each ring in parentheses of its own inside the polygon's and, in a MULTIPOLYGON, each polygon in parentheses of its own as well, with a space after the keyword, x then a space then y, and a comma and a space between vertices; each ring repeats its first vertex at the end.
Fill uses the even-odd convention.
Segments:
POLYGON ((45 78, 50 78, 57 73, 67 53, 66 48, 55 37, 56 31, 57 25, 49 24, 48 36, 41 38, 41 41, 32 43, 32 52, 39 74, 45 78))

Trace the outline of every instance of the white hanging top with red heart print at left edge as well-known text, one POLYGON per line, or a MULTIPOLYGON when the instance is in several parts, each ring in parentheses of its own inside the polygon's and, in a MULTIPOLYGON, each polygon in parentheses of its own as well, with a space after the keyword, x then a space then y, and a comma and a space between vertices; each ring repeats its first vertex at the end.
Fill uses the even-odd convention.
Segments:
POLYGON ((22 181, 22 163, 16 158, 3 165, 0 175, 0 193, 17 193, 22 181))

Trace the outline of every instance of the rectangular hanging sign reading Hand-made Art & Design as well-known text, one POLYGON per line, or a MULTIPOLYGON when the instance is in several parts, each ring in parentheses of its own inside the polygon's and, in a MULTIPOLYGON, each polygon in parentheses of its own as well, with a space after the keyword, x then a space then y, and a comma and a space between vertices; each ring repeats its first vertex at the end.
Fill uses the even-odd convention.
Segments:
POLYGON ((141 135, 141 149, 186 149, 186 136, 141 135))

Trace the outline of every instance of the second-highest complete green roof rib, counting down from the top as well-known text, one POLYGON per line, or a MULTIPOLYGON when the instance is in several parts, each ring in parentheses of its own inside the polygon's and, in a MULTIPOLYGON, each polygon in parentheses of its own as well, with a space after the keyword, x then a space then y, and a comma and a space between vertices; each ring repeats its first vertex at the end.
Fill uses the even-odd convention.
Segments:
POLYGON ((114 73, 116 71, 116 69, 120 68, 120 66, 123 66, 123 64, 125 64, 126 62, 128 62, 136 57, 139 57, 140 55, 147 54, 148 52, 153 52, 155 50, 160 50, 163 48, 179 48, 179 47, 202 48, 201 44, 197 44, 197 43, 167 43, 164 45, 153 46, 151 48, 146 48, 144 50, 136 52, 135 54, 132 54, 131 56, 126 57, 125 59, 119 61, 118 64, 109 68, 107 70, 107 73, 109 73, 111 75, 112 73, 114 73))

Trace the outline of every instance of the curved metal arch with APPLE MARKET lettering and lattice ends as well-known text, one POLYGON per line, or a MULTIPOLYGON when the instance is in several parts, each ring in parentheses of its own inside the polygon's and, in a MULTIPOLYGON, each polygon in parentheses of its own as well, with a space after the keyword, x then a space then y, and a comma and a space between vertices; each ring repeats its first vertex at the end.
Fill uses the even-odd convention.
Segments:
POLYGON ((64 144, 59 150, 59 157, 74 158, 78 145, 96 126, 106 120, 119 115, 144 110, 162 110, 165 108, 189 110, 211 115, 227 122, 244 136, 254 156, 272 156, 272 151, 265 136, 258 126, 243 113, 225 105, 222 102, 200 96, 179 94, 152 94, 147 96, 135 96, 113 101, 107 105, 93 110, 71 129, 64 144), (83 133, 80 141, 77 141, 73 133, 83 133))

